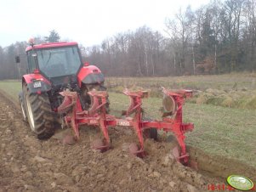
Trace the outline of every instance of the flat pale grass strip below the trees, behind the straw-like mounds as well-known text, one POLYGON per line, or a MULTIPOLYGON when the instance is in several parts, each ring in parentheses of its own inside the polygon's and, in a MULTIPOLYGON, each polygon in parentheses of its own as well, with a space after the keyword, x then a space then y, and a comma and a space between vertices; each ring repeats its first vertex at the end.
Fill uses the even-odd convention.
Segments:
POLYGON ((168 77, 108 77, 108 88, 122 86, 130 88, 138 86, 156 90, 161 86, 165 88, 191 88, 205 90, 216 88, 230 90, 233 88, 256 88, 255 73, 234 73, 220 76, 168 76, 168 77))

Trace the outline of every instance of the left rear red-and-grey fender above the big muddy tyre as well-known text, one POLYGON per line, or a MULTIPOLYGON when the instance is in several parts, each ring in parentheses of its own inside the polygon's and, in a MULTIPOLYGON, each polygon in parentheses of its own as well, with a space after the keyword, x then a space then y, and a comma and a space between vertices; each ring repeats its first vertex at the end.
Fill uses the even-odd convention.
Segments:
POLYGON ((51 90, 51 83, 41 74, 27 74, 22 77, 22 85, 26 84, 31 93, 44 93, 51 90), (41 82, 41 87, 35 88, 34 83, 41 82))

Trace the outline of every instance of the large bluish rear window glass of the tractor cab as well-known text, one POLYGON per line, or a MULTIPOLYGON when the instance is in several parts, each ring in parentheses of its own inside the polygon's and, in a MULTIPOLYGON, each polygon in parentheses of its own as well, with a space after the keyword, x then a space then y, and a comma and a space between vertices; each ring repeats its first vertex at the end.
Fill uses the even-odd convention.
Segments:
POLYGON ((77 47, 37 49, 38 65, 48 77, 76 74, 81 60, 77 47))

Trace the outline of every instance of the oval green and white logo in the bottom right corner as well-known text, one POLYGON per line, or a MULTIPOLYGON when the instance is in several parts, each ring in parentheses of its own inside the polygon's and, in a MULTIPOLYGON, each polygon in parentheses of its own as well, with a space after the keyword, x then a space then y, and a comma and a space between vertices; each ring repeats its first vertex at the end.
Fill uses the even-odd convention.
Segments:
POLYGON ((227 178, 227 182, 233 188, 239 190, 253 189, 253 182, 249 178, 246 178, 241 175, 230 175, 230 177, 227 178))

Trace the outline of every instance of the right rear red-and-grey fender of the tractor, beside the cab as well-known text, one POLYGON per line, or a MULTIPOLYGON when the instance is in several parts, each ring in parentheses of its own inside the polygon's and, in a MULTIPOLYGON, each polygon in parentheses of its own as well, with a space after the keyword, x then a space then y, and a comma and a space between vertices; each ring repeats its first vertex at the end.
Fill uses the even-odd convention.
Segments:
POLYGON ((79 88, 81 88, 82 83, 84 84, 94 84, 102 83, 105 81, 104 75, 101 73, 100 69, 94 65, 83 66, 78 72, 77 81, 79 88))

